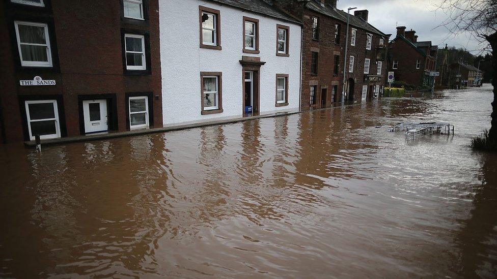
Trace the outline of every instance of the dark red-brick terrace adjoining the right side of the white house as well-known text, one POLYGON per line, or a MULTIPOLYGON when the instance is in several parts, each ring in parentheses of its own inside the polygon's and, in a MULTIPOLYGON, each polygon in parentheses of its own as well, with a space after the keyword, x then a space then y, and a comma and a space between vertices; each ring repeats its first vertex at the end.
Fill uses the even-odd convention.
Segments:
POLYGON ((337 9, 336 0, 272 3, 303 23, 301 110, 341 102, 344 70, 348 101, 361 100, 363 92, 365 99, 378 96, 384 85, 383 60, 389 36, 368 23, 367 10, 350 15, 349 41, 345 42, 347 13, 337 9), (344 61, 346 43, 348 57, 344 61))

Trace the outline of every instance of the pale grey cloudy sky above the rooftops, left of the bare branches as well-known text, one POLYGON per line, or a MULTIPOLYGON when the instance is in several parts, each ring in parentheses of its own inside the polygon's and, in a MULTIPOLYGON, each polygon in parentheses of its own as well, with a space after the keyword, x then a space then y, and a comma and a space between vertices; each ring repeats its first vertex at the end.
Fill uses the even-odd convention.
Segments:
POLYGON ((482 47, 470 35, 453 36, 440 25, 447 15, 437 10, 439 0, 339 0, 338 8, 347 11, 349 7, 357 10, 369 10, 369 22, 385 34, 397 33, 396 26, 406 26, 406 30, 416 30, 420 41, 432 41, 439 47, 448 44, 457 48, 465 48, 478 54, 482 47))

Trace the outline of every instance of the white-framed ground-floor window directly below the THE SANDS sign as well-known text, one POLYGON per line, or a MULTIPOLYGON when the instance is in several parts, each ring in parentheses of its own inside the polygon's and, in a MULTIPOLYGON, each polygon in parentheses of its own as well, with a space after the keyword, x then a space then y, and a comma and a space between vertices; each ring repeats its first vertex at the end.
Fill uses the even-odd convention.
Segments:
POLYGON ((30 139, 36 135, 41 139, 61 137, 59 110, 56 100, 26 101, 27 129, 30 139))

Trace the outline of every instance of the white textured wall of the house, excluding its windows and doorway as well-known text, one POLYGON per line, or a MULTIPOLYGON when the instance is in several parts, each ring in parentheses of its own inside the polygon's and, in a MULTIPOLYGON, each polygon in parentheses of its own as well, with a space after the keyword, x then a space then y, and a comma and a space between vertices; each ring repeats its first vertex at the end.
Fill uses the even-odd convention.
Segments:
POLYGON ((258 56, 260 114, 296 111, 300 98, 301 27, 208 1, 159 1, 162 113, 164 126, 241 117, 242 55, 258 56), (222 50, 199 47, 199 6, 220 11, 222 50), (243 53, 243 16, 259 19, 260 54, 243 53), (276 55, 276 25, 290 26, 290 57, 276 55), (223 113, 201 115, 200 72, 223 73, 223 113), (275 106, 276 74, 289 75, 288 106, 275 106))

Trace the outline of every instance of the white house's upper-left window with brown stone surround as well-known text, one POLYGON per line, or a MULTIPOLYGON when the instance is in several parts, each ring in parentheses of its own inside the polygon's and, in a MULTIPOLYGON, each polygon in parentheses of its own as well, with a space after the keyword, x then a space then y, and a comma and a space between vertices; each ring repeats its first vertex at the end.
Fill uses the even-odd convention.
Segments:
POLYGON ((219 11, 202 6, 199 9, 201 19, 200 47, 220 50, 219 11))

